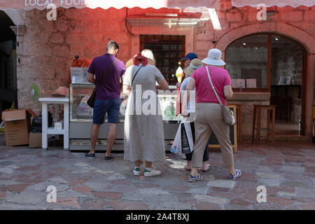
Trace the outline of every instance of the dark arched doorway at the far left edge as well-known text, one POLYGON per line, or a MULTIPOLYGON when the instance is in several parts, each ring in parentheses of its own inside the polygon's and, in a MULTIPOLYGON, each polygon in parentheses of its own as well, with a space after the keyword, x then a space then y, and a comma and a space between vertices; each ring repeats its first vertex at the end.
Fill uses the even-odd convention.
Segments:
POLYGON ((0 10, 0 113, 17 100, 16 40, 10 26, 13 21, 0 10))

